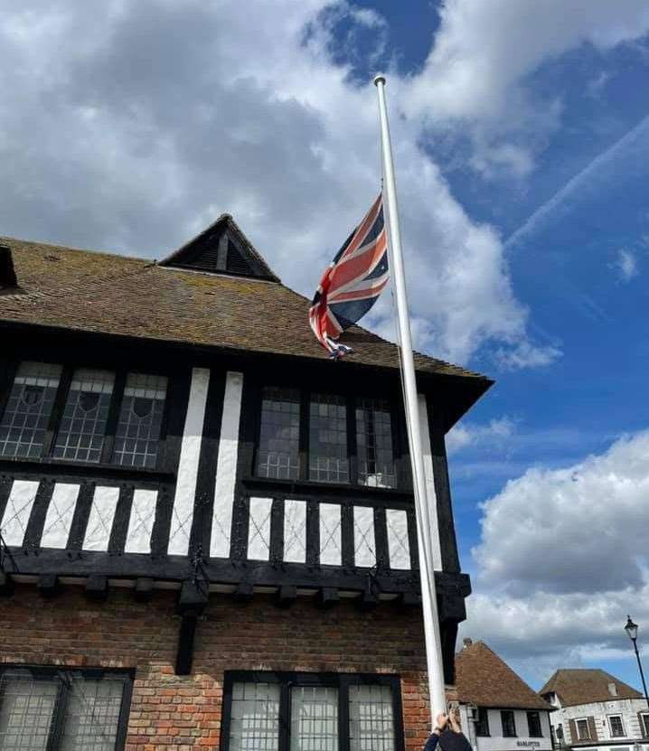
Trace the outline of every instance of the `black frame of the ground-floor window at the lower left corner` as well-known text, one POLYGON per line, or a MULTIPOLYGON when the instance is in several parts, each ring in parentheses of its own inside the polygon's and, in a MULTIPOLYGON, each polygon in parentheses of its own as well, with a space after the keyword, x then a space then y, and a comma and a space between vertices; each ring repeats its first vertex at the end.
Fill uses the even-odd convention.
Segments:
POLYGON ((101 680, 103 678, 119 679, 122 681, 122 700, 119 707, 118 726, 115 736, 114 751, 124 751, 127 742, 128 716, 133 698, 133 681, 135 672, 132 670, 112 668, 78 668, 74 666, 63 667, 59 665, 33 665, 5 663, 0 665, 0 706, 2 706, 3 690, 2 679, 7 672, 29 671, 32 678, 38 681, 52 681, 57 686, 57 697, 52 711, 52 724, 49 729, 47 748, 59 751, 63 728, 65 724, 68 696, 66 691, 66 678, 71 673, 80 675, 82 678, 101 680), (62 700, 61 700, 62 699, 62 700))

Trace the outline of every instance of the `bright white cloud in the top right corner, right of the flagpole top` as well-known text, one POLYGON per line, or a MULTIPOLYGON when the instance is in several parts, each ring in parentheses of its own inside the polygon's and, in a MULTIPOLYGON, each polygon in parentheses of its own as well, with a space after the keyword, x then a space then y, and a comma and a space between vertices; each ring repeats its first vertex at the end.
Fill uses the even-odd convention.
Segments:
POLYGON ((447 0, 435 46, 404 106, 434 129, 447 127, 447 120, 462 122, 473 139, 473 164, 482 172, 509 158, 513 174, 526 174, 544 136, 559 125, 560 101, 535 98, 525 77, 581 44, 607 50, 647 30, 644 0, 447 0))

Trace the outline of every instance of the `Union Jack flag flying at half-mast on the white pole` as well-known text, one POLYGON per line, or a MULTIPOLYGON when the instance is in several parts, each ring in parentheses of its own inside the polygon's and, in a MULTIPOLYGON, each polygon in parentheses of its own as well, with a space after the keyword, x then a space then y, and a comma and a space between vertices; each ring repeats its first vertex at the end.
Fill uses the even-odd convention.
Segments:
POLYGON ((383 196, 379 193, 327 267, 309 308, 315 338, 332 358, 352 352, 338 337, 370 310, 389 278, 383 196))

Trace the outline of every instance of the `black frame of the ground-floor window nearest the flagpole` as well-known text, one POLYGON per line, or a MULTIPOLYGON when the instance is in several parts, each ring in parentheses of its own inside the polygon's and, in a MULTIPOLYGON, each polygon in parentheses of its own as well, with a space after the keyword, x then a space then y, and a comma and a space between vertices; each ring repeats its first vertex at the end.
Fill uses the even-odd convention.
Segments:
POLYGON ((389 686, 392 693, 395 751, 405 751, 401 681, 398 675, 343 672, 287 672, 287 671, 225 671, 221 709, 221 737, 218 748, 230 751, 230 720, 232 687, 236 682, 278 683, 279 694, 279 751, 290 748, 291 695, 296 687, 331 688, 338 690, 338 751, 349 751, 349 687, 355 684, 389 686), (345 730, 346 728, 346 730, 345 730))

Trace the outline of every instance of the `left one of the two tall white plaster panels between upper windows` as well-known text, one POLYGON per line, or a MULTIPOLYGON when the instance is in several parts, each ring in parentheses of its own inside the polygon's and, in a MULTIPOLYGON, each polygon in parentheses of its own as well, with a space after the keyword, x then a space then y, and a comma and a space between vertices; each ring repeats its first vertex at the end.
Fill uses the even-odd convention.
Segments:
POLYGON ((186 556, 189 551, 198 460, 201 454, 202 424, 205 419, 205 405, 209 386, 210 371, 207 368, 193 368, 167 548, 169 555, 186 556))

